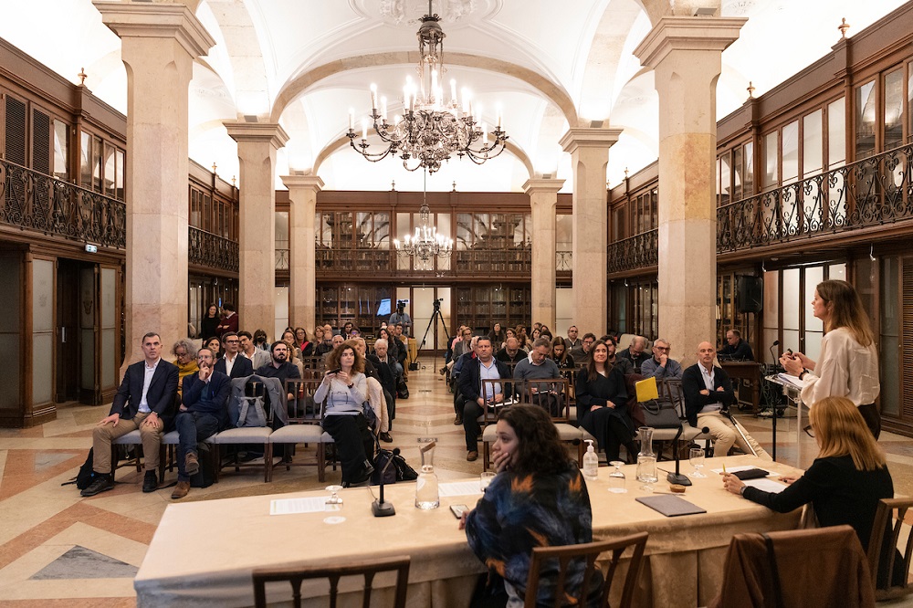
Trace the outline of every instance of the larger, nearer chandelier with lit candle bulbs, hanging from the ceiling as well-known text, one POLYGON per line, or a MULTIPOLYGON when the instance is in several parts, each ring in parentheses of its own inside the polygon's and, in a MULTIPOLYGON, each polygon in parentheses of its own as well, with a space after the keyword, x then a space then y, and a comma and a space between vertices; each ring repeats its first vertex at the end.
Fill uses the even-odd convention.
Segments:
POLYGON ((412 77, 406 77, 403 88, 403 116, 394 116, 387 121, 387 98, 377 104, 377 87, 371 85, 371 116, 373 133, 380 136, 383 144, 380 150, 372 149, 368 143, 369 120, 362 121, 362 140, 355 143, 354 110, 349 110, 349 143, 371 162, 378 162, 389 155, 399 155, 407 171, 424 168, 435 173, 441 162, 450 160, 453 154, 466 156, 476 164, 504 152, 508 134, 501 130, 501 110, 498 109, 498 124, 488 141, 488 125, 477 122, 482 109, 474 114, 472 100, 467 89, 461 90, 461 100, 456 98, 456 80, 450 80, 450 100, 445 101, 441 85, 446 72, 444 67, 444 30, 438 24, 440 16, 431 13, 428 0, 428 14, 422 17, 418 30, 418 84, 412 77))

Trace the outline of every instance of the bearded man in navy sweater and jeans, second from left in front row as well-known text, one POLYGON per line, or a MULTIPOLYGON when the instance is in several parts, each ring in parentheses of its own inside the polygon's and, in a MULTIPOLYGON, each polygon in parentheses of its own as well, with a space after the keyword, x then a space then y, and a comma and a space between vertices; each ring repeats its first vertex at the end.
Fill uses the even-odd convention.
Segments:
MULTIPOLYGON (((228 335, 237 337, 234 333, 228 335)), ((184 378, 184 397, 181 399, 177 415, 174 416, 174 427, 179 438, 177 486, 172 492, 172 498, 175 500, 187 496, 190 492, 190 477, 200 470, 200 457, 196 445, 228 426, 228 393, 231 392, 231 379, 225 372, 215 369, 213 353, 209 349, 200 349, 196 354, 196 361, 199 372, 184 378)), ((244 357, 241 357, 241 361, 250 364, 244 357)))

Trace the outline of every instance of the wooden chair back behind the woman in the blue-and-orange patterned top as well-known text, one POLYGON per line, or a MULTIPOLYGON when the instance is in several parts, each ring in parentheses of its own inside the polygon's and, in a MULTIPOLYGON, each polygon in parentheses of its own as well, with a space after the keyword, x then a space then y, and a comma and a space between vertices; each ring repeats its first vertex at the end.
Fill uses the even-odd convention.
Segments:
POLYGON ((586 591, 590 588, 590 581, 593 579, 593 573, 596 570, 596 559, 603 553, 611 551, 611 561, 609 561, 609 571, 605 575, 603 582, 602 598, 599 606, 608 607, 609 591, 612 588, 615 570, 618 568, 618 562, 622 554, 628 547, 633 548, 631 560, 628 562, 627 575, 624 577, 624 588, 622 589, 621 601, 616 608, 629 608, 634 602, 634 592, 637 585, 637 577, 640 574, 641 565, 644 562, 644 550, 646 539, 649 536, 647 532, 632 534, 621 539, 601 540, 597 542, 587 542, 580 545, 567 545, 562 547, 537 547, 532 550, 532 560, 530 561, 530 576, 526 583, 526 598, 524 605, 535 606, 536 594, 539 592, 539 582, 541 568, 543 563, 558 560, 558 581, 555 584, 555 606, 565 605, 561 600, 566 597, 572 597, 570 592, 565 588, 567 580, 568 566, 572 560, 586 560, 586 570, 583 572, 583 583, 577 590, 576 599, 578 605, 589 605, 586 603, 586 591))

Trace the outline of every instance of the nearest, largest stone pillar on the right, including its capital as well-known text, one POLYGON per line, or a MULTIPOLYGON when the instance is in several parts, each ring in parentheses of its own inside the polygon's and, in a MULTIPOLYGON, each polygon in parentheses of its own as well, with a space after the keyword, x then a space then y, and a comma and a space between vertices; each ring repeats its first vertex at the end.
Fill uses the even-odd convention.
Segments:
POLYGON ((717 79, 745 21, 662 17, 635 49, 659 93, 659 333, 683 364, 716 342, 717 79))

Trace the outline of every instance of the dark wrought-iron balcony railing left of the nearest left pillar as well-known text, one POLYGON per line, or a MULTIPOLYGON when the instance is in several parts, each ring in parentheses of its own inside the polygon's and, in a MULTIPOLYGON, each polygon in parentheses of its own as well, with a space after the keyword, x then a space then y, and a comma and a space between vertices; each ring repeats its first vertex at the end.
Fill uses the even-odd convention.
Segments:
POLYGON ((110 196, 0 161, 0 223, 123 249, 127 208, 110 196))

